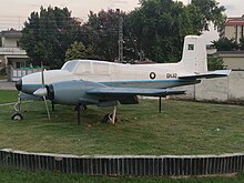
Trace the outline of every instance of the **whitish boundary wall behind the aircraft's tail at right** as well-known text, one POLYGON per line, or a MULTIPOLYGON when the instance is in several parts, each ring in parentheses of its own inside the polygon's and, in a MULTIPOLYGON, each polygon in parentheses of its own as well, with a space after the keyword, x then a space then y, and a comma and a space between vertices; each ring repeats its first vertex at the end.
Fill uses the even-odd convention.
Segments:
POLYGON ((244 102, 244 71, 232 71, 230 77, 202 80, 201 83, 177 88, 186 90, 186 95, 173 99, 197 101, 244 102))

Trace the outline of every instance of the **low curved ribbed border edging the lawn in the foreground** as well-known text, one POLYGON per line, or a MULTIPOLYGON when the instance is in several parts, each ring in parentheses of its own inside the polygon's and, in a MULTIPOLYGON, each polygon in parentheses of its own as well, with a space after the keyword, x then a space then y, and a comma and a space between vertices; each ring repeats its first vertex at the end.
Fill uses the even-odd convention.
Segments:
POLYGON ((0 166, 108 176, 195 176, 241 173, 244 154, 62 155, 0 150, 0 166))

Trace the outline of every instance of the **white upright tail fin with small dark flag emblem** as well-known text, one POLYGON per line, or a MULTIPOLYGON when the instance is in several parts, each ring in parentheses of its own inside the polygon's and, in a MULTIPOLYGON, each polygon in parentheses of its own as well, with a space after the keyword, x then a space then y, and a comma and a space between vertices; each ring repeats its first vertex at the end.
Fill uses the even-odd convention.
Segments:
POLYGON ((187 73, 201 73, 207 71, 206 45, 201 37, 185 37, 180 65, 187 73))

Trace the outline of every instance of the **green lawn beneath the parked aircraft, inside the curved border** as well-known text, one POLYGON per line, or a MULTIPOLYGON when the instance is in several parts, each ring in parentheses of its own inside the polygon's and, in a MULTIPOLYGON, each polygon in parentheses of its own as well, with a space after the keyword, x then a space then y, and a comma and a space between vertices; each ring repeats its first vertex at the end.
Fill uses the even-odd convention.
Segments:
MULTIPOLYGON (((16 94, 1 91, 0 98, 12 102, 16 94)), ((24 120, 14 122, 12 106, 0 106, 0 149, 80 155, 244 152, 244 109, 237 105, 164 101, 160 114, 157 101, 142 100, 139 105, 120 105, 115 125, 100 122, 111 109, 89 108, 81 125, 73 106, 57 105, 51 121, 43 102, 24 103, 22 109, 24 120)))

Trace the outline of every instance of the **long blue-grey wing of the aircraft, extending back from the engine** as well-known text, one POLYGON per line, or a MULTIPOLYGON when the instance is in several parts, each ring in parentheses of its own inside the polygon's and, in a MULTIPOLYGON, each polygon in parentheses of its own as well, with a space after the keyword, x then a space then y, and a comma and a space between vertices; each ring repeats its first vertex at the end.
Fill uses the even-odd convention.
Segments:
POLYGON ((166 96, 173 94, 184 94, 184 90, 173 89, 139 89, 139 88, 94 88, 87 91, 92 95, 148 95, 148 96, 166 96))

